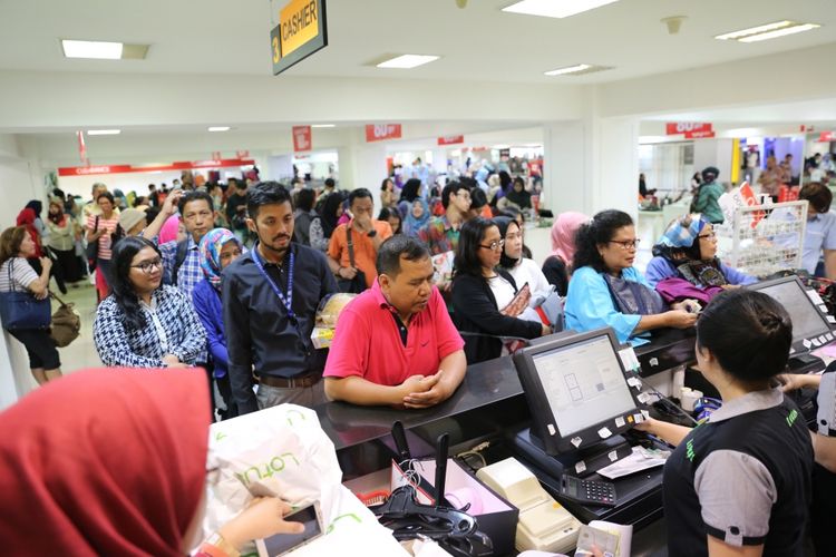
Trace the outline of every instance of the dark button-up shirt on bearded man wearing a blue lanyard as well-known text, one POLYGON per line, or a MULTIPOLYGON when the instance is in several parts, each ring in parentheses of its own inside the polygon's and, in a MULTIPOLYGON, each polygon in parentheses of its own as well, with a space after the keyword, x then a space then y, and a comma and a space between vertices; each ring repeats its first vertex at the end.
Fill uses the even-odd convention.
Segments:
MULTIPOLYGON (((255 250, 254 247, 253 250, 255 250)), ((337 282, 325 256, 308 246, 291 243, 293 268, 293 312, 298 324, 252 258, 239 257, 223 272, 224 325, 230 358, 230 383, 241 413, 259 409, 252 390, 252 370, 257 375, 292 378, 321 372, 327 353, 311 343, 317 307, 337 282)), ((290 255, 282 267, 264 268, 282 293, 286 293, 290 255)))

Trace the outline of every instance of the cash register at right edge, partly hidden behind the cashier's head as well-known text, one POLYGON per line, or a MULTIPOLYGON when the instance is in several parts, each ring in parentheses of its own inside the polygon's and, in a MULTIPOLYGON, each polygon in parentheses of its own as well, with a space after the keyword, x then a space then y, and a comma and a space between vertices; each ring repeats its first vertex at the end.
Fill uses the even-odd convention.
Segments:
POLYGON ((787 362, 789 371, 809 373, 824 370, 825 363, 810 352, 836 340, 830 330, 836 324, 836 319, 827 313, 827 306, 818 293, 808 292, 795 275, 762 281, 747 287, 775 299, 789 313, 789 319, 793 320, 793 346, 787 362))

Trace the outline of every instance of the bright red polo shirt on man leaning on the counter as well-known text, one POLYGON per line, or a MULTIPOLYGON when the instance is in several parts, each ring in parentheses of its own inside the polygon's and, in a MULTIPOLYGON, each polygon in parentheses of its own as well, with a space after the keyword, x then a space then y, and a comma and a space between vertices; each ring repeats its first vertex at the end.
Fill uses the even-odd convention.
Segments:
POLYGON ((409 321, 406 346, 393 312, 377 281, 352 300, 337 321, 323 375, 393 387, 411 375, 435 375, 441 360, 465 345, 435 286, 427 307, 409 321))

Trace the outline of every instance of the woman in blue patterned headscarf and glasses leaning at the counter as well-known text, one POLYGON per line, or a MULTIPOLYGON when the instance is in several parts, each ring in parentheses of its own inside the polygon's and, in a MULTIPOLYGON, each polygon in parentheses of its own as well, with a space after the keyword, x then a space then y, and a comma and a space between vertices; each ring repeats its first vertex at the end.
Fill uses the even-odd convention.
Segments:
POLYGON ((708 302, 722 290, 757 282, 720 263, 713 226, 700 214, 673 221, 653 246, 653 255, 645 276, 662 296, 692 292, 699 301, 708 302))

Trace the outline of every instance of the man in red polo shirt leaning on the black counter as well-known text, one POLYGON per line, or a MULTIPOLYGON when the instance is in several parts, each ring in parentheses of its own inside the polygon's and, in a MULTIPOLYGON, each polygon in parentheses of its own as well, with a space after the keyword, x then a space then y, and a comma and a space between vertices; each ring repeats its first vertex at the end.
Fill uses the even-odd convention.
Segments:
POLYGON ((337 322, 325 394, 354 404, 428 408, 465 377, 465 343, 432 285, 427 246, 397 235, 378 250, 378 278, 337 322))

